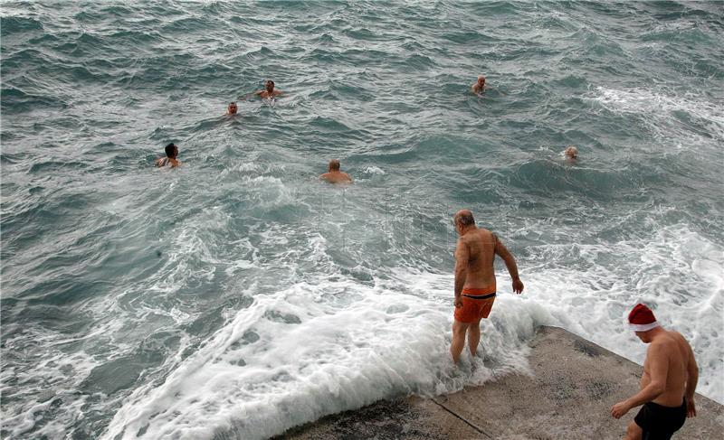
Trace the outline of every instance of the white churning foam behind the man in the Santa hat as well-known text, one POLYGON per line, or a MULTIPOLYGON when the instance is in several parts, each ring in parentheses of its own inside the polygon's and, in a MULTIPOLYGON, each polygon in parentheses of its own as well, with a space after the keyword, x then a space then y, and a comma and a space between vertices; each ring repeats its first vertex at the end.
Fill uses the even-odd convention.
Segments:
POLYGON ((529 295, 561 326, 643 363, 646 345, 625 325, 634 304, 653 307, 665 327, 691 342, 700 366, 698 390, 722 401, 724 384, 724 249, 685 226, 607 245, 544 246, 537 259, 575 255, 586 270, 541 266, 527 278, 529 295), (616 261, 602 265, 612 252, 616 261))

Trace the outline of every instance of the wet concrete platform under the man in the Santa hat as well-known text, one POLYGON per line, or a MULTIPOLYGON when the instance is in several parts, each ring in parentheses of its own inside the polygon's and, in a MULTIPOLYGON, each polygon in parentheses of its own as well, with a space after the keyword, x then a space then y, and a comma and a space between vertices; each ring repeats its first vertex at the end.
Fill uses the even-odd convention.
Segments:
MULTIPOLYGON (((397 398, 292 428, 287 439, 621 439, 638 412, 610 408, 638 389, 643 368, 573 333, 540 327, 533 376, 509 375, 437 398, 397 398)), ((724 439, 724 407, 697 395, 698 417, 674 438, 724 439)))

